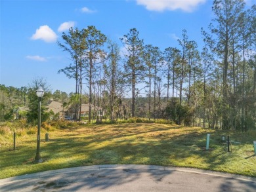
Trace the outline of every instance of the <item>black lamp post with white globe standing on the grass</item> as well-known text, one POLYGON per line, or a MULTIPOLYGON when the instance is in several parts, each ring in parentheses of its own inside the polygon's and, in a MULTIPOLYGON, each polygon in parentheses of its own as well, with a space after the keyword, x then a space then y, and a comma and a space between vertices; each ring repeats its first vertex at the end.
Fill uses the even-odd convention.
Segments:
POLYGON ((43 159, 41 159, 40 155, 40 128, 41 128, 41 100, 43 97, 43 88, 39 88, 36 90, 37 97, 39 98, 38 102, 38 126, 37 126, 37 153, 35 155, 35 163, 42 163, 43 159))

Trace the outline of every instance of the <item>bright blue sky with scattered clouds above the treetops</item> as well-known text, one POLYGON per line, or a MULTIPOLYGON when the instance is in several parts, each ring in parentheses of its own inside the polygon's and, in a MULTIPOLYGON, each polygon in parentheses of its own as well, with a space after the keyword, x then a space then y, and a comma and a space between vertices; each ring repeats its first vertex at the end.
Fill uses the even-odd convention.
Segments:
MULTIPOLYGON (((202 47, 201 28, 213 19, 212 0, 0 0, 0 84, 28 86, 43 77, 52 90, 74 92, 75 81, 57 71, 70 56, 56 44, 68 28, 95 26, 122 47, 137 28, 140 39, 164 50, 177 47, 182 29, 202 47)), ((247 0, 251 7, 255 0, 247 0)))

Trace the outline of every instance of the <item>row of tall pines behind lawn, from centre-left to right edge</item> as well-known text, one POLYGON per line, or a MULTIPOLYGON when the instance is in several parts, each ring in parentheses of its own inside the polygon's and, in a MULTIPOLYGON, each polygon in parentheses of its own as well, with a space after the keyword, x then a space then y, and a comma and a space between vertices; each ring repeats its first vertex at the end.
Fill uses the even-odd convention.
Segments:
MULTIPOLYGON (((202 29, 202 50, 186 29, 179 47, 160 50, 144 45, 135 28, 120 39, 123 49, 95 26, 70 28, 58 45, 72 63, 59 73, 75 79, 75 93, 66 94, 62 103, 76 106, 77 120, 81 104, 89 103, 89 122, 103 116, 112 121, 146 117, 210 128, 256 128, 256 5, 245 10, 243 0, 215 0, 212 10, 215 18, 202 29)), ((10 92, 1 111, 11 109, 10 92)), ((26 105, 25 98, 19 104, 26 105)))

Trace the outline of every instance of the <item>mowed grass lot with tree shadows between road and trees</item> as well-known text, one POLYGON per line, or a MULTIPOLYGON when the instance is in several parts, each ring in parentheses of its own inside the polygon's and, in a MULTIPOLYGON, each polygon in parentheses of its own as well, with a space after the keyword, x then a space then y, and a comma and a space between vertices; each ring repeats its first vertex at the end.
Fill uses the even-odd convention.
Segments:
POLYGON ((202 168, 256 177, 253 138, 241 132, 163 124, 86 125, 41 133, 43 163, 33 163, 36 134, 17 136, 12 150, 11 136, 0 134, 0 178, 33 172, 93 164, 155 164, 202 168), (205 149, 210 136, 209 150, 205 149), (232 152, 221 141, 230 135, 232 152))

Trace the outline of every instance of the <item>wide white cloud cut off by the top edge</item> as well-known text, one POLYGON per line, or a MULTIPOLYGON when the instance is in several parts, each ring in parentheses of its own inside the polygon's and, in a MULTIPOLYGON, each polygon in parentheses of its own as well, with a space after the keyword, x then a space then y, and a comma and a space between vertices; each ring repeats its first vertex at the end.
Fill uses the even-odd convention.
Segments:
POLYGON ((206 0, 137 0, 138 5, 144 5, 148 10, 163 11, 181 9, 191 12, 206 0))

